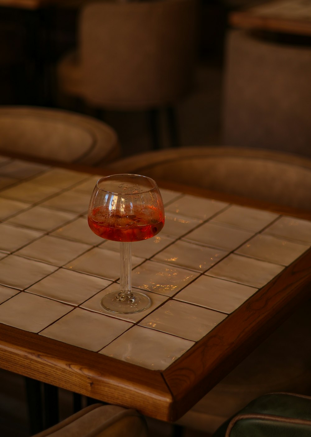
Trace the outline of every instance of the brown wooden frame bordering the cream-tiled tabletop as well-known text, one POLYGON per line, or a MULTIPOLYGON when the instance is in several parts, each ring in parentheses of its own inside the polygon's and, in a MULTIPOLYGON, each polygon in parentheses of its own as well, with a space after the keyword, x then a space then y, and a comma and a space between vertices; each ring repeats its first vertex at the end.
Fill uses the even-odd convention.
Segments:
MULTIPOLYGON (((56 165, 105 174, 98 168, 56 165)), ((311 212, 179 184, 158 183, 160 187, 188 194, 311 219, 311 212)), ((310 293, 306 285, 310 281, 311 249, 164 371, 141 368, 3 324, 0 324, 0 367, 101 401, 135 408, 146 416, 173 422, 308 299, 310 293)))

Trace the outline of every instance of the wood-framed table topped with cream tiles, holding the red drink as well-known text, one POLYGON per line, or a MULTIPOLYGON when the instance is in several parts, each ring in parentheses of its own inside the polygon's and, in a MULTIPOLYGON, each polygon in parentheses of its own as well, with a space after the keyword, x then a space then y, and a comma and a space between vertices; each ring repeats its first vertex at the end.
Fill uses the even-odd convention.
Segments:
POLYGON ((152 306, 112 314, 119 245, 88 228, 100 175, 77 169, 1 158, 0 367, 177 420, 308 297, 311 216, 160 184, 165 226, 133 244, 152 306))

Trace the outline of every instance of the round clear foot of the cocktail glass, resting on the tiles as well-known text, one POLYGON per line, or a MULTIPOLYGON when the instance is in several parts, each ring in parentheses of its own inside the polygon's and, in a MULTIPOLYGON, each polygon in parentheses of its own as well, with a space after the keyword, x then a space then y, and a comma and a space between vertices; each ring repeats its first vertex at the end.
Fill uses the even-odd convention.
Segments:
POLYGON ((120 292, 108 293, 100 302, 107 311, 118 314, 135 314, 149 308, 151 300, 148 296, 139 291, 132 291, 131 296, 125 299, 120 298, 120 292))

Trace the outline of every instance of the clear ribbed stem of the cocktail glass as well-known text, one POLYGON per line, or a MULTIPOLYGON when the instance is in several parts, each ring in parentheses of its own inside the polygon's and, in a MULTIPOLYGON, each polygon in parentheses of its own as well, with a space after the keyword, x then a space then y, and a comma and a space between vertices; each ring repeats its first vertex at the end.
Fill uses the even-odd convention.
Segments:
POLYGON ((128 300, 131 293, 132 243, 120 243, 120 300, 128 300))

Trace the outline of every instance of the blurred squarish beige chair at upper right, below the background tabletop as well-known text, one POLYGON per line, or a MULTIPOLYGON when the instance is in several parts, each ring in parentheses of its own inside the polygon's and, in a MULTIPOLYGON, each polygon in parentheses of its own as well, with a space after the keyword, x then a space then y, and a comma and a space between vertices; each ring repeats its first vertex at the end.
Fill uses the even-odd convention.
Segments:
POLYGON ((267 35, 228 31, 221 142, 311 157, 310 38, 267 35))

